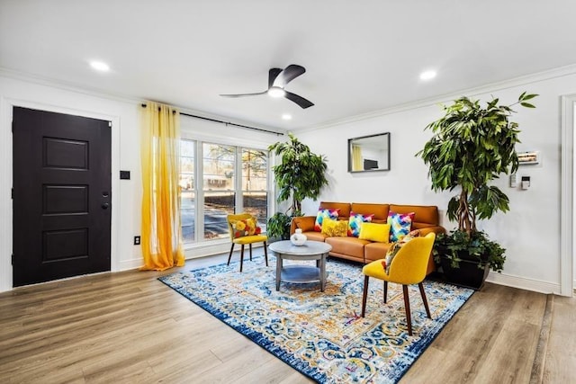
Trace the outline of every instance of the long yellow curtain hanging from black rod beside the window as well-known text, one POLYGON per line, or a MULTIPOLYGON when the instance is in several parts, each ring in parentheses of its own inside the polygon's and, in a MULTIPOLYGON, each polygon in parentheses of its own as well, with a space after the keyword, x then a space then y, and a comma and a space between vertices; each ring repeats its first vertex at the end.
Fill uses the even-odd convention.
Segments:
POLYGON ((164 271, 184 265, 180 227, 180 113, 148 102, 142 108, 142 234, 144 265, 164 271))

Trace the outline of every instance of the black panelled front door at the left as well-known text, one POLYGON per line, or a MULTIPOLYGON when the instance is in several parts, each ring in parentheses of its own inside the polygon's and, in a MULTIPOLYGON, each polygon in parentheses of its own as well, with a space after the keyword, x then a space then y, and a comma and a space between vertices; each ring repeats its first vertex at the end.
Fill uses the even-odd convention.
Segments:
POLYGON ((109 121, 14 107, 14 287, 110 271, 109 121))

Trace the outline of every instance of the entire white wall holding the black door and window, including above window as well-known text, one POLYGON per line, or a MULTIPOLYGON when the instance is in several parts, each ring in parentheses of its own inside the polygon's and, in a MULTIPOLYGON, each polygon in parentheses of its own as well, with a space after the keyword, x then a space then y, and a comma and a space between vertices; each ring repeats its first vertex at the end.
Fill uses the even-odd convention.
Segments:
MULTIPOLYGON (((14 105, 112 121, 112 272, 139 267, 142 264, 140 247, 133 246, 132 241, 140 232, 140 102, 0 74, 0 291, 12 289, 11 130, 14 105), (120 180, 120 170, 130 171, 130 180, 120 180)), ((284 139, 185 116, 181 118, 181 126, 186 138, 223 144, 266 148, 284 139)), ((228 250, 227 241, 216 246, 189 247, 185 254, 190 258, 228 250)))

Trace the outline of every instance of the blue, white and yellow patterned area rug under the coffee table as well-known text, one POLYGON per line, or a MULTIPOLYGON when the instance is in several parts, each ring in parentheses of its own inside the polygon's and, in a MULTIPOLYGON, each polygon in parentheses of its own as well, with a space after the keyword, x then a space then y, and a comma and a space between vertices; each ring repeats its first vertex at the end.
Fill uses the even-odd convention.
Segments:
MULTIPOLYGON (((432 319, 410 287, 413 336, 408 335, 401 285, 370 279, 366 317, 359 264, 329 259, 320 284, 282 283, 275 290, 275 258, 215 265, 161 277, 214 317, 321 383, 394 383, 408 371, 473 290, 424 281, 432 319)), ((287 261, 285 264, 291 263, 287 261)), ((292 262, 293 263, 293 262, 292 262)))

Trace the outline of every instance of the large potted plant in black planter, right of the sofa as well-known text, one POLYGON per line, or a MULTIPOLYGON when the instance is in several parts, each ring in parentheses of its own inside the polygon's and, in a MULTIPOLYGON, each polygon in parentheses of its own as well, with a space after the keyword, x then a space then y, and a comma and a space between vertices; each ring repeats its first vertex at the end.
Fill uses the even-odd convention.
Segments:
POLYGON ((426 127, 434 135, 416 156, 428 165, 432 190, 457 192, 446 214, 458 227, 438 236, 433 251, 448 281, 480 289, 490 269, 502 271, 506 250, 478 230, 476 220, 509 210, 508 196, 491 181, 518 169, 519 129, 510 121, 512 107, 535 108, 528 103, 534 97, 525 92, 517 103, 499 105, 493 99, 485 106, 461 97, 426 127))

